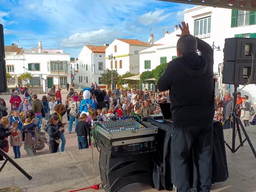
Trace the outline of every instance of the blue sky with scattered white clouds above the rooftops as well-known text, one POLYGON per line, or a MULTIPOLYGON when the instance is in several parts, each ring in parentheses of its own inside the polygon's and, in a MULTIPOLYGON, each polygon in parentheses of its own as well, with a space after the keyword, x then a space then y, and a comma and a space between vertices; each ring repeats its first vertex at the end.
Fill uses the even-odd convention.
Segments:
POLYGON ((158 0, 0 0, 4 43, 25 49, 64 49, 77 57, 85 44, 103 45, 115 38, 155 40, 184 19, 194 5, 158 0))

